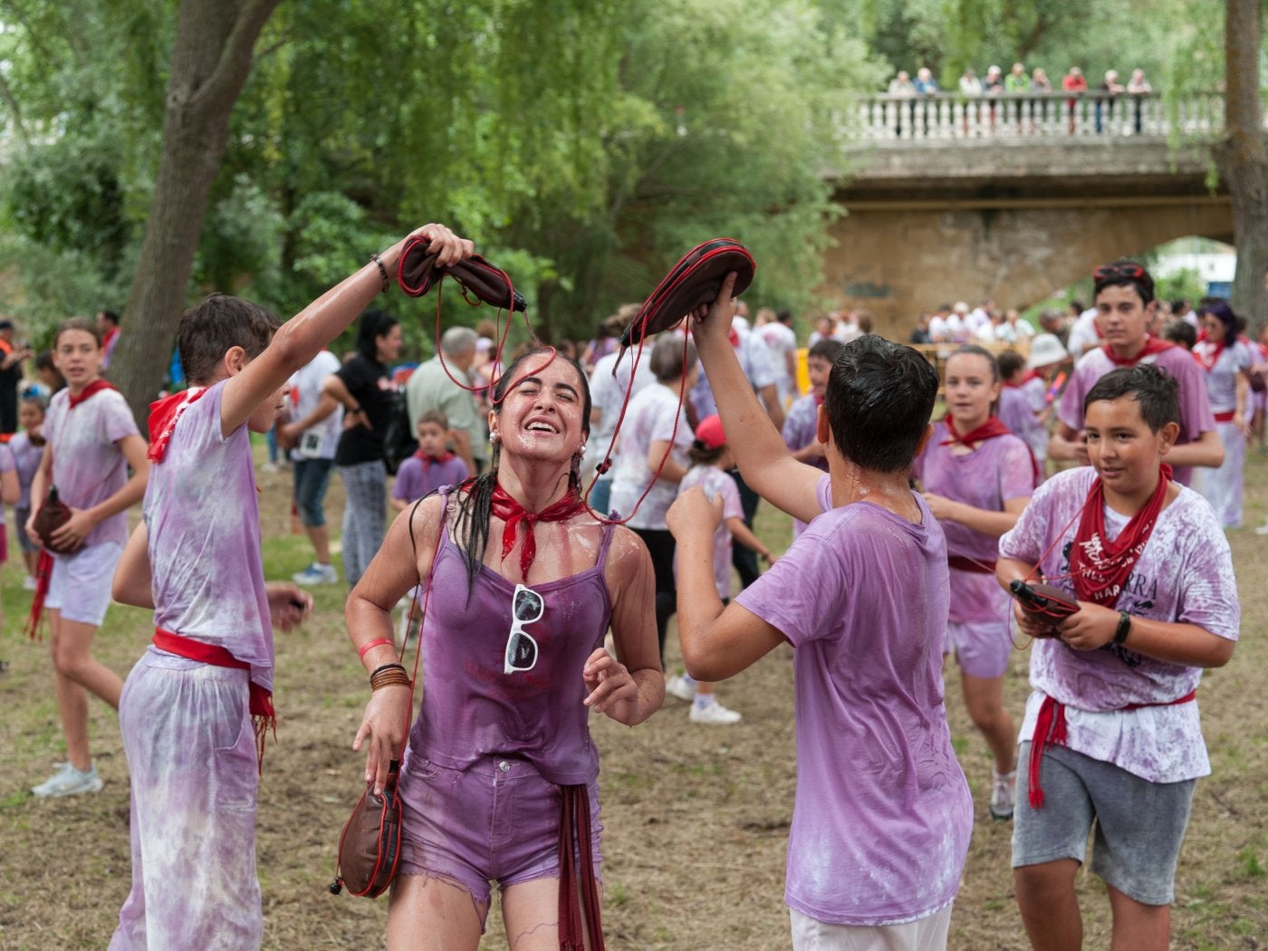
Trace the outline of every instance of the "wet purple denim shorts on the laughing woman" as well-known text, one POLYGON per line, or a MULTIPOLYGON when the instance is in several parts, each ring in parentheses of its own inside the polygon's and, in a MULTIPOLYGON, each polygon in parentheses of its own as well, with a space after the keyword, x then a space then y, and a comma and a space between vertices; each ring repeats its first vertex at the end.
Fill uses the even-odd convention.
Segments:
MULTIPOLYGON (((590 791, 595 876, 598 848, 598 781, 590 791)), ((522 757, 489 754, 465 770, 407 756, 401 772, 401 875, 445 879, 488 909, 489 881, 506 889, 559 877, 563 794, 522 757)))

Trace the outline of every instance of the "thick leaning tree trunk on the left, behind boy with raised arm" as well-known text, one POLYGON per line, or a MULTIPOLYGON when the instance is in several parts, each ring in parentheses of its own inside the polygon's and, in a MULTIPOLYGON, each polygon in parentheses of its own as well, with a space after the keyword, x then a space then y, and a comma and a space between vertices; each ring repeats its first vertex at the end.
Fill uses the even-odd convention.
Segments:
POLYGON ((142 424, 158 394, 251 49, 279 0, 183 0, 171 56, 162 156, 141 260, 110 365, 142 424))

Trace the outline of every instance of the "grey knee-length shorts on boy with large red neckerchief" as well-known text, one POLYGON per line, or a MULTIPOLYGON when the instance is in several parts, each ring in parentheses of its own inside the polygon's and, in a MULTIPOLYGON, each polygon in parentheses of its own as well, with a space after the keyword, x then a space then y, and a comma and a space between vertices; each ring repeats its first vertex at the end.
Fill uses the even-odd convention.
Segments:
POLYGON ((1113 763, 1050 747, 1040 768, 1044 808, 1032 809, 1030 748, 1022 743, 1017 771, 1013 867, 1058 858, 1082 865, 1094 824, 1092 871, 1141 904, 1170 904, 1197 780, 1150 782, 1113 763))

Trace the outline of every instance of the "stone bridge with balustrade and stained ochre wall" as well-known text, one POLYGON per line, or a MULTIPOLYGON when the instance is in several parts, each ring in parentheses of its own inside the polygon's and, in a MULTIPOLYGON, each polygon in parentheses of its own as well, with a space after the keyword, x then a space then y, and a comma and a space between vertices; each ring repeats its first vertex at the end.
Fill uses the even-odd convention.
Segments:
POLYGON ((938 303, 1026 307, 1172 238, 1232 240, 1219 95, 880 95, 838 120, 823 289, 896 339, 938 303))

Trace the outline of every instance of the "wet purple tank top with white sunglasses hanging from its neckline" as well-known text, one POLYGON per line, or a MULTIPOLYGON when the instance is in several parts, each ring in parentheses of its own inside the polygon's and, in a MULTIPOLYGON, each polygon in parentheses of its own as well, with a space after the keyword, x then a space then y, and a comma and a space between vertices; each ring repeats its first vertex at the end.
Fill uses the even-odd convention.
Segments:
POLYGON ((410 732, 408 758, 425 756, 462 770, 502 753, 529 760, 559 785, 598 776, 582 668, 611 620, 604 581, 611 538, 607 525, 593 568, 531 586, 544 610, 524 630, 538 643, 538 661, 530 671, 503 673, 515 583, 482 564, 468 600, 467 563, 445 527, 431 569, 422 709, 410 732))

